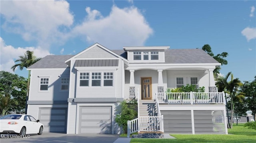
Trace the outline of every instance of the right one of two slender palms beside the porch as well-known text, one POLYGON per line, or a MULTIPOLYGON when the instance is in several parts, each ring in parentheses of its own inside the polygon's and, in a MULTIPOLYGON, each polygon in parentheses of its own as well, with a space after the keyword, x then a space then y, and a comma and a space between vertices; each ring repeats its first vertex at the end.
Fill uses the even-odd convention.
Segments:
POLYGON ((230 128, 233 127, 233 114, 234 114, 234 103, 236 100, 236 96, 238 88, 242 86, 243 84, 239 80, 239 78, 234 78, 233 74, 231 75, 231 80, 228 82, 226 86, 226 91, 230 95, 230 102, 231 102, 231 123, 230 123, 230 128))

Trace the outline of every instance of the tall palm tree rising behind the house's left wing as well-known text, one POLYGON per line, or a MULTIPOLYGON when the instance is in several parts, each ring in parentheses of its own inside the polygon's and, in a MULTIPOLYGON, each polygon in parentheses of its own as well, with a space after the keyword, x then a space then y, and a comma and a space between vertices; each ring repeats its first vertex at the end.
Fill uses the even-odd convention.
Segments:
MULTIPOLYGON (((16 67, 19 67, 19 69, 22 71, 23 68, 28 68, 34 63, 38 62, 42 58, 37 58, 34 55, 34 51, 26 51, 24 56, 19 56, 19 59, 17 59, 15 62, 20 62, 18 64, 15 64, 11 67, 12 71, 15 71, 16 67)), ((28 101, 28 92, 29 92, 29 84, 30 84, 30 72, 28 71, 28 83, 27 83, 27 96, 26 96, 26 102, 28 101)), ((27 114, 27 104, 25 107, 25 114, 27 114)))

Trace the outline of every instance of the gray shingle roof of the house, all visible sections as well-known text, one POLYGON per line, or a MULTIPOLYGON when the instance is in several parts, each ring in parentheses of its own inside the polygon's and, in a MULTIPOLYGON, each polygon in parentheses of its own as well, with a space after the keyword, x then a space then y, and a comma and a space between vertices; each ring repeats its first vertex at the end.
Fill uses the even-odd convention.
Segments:
MULTIPOLYGON (((127 53, 125 53, 124 50, 111 51, 127 59, 127 53)), ((30 66, 28 69, 66 68, 67 65, 65 64, 65 61, 73 56, 74 55, 48 55, 30 66)), ((218 63, 218 61, 205 53, 202 49, 168 49, 165 51, 165 63, 218 63)))

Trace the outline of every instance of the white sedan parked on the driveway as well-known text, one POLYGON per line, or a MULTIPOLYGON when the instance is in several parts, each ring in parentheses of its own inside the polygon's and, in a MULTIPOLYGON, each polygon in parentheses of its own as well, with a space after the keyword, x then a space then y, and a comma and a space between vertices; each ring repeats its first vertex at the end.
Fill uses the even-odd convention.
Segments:
POLYGON ((30 115, 11 114, 0 119, 0 134, 26 135, 38 133, 38 135, 41 135, 43 131, 44 125, 30 115))

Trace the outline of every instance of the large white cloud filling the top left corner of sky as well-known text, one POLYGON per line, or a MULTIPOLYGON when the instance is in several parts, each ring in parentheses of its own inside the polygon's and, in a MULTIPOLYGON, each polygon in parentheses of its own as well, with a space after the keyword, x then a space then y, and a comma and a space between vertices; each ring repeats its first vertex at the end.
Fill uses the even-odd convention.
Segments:
POLYGON ((64 0, 1 1, 0 8, 4 30, 18 33, 26 41, 35 40, 46 48, 64 42, 62 31, 69 31, 74 19, 69 3, 64 0))

